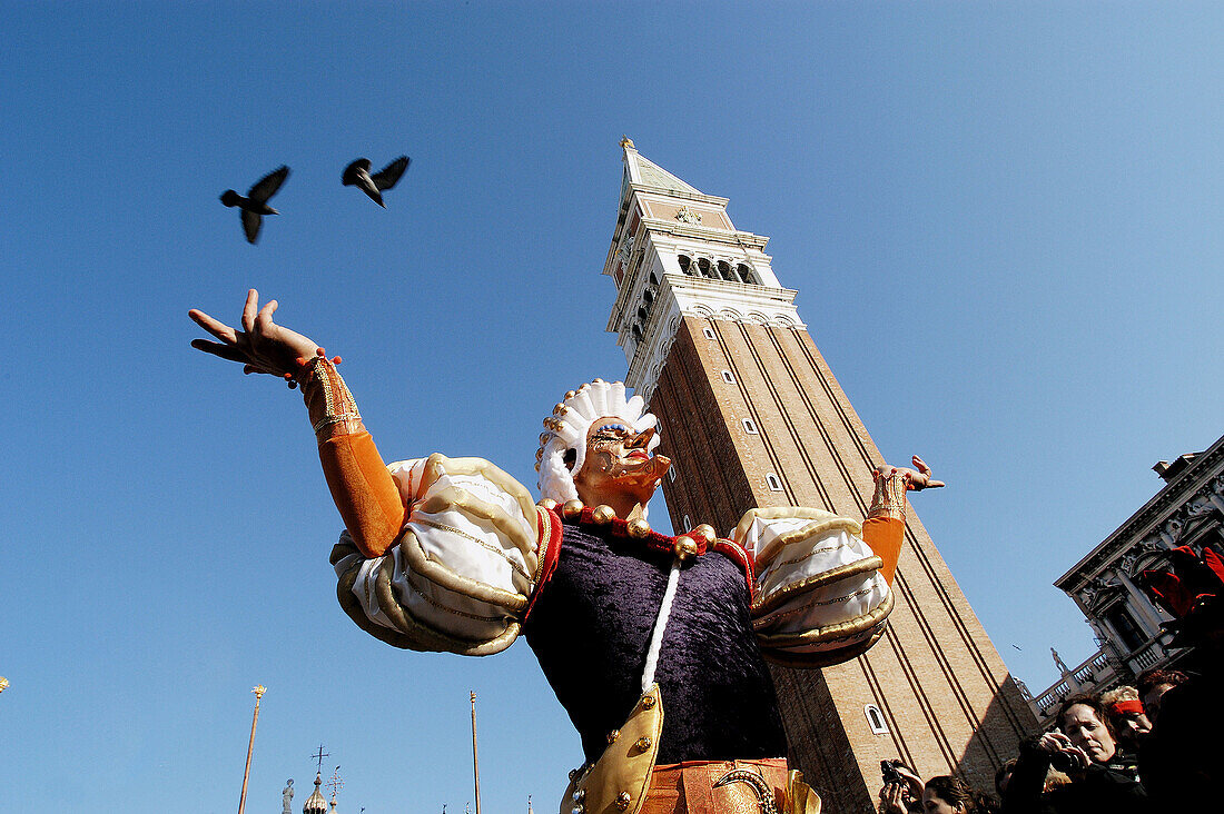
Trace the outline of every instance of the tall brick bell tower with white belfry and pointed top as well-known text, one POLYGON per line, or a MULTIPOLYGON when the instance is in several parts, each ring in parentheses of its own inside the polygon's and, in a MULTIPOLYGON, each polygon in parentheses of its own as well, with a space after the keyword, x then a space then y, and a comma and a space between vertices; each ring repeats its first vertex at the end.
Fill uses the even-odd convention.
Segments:
MULTIPOLYGON (((625 383, 674 461, 672 524, 727 534, 753 507, 863 518, 884 458, 781 285, 767 237, 736 229, 705 195, 622 140, 624 175, 603 273, 607 329, 625 383)), ((830 812, 874 812, 880 760, 991 788, 1037 722, 909 507, 889 627, 865 655, 824 670, 775 666, 794 767, 830 812)))

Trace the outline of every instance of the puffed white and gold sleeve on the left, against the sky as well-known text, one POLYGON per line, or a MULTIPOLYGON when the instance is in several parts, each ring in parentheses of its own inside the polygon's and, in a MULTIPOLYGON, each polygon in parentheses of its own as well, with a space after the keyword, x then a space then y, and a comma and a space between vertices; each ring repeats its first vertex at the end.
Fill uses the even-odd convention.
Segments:
POLYGON ((340 536, 332 564, 345 612, 397 648, 482 656, 510 646, 545 562, 548 514, 480 458, 433 454, 388 469, 408 515, 381 557, 340 536))

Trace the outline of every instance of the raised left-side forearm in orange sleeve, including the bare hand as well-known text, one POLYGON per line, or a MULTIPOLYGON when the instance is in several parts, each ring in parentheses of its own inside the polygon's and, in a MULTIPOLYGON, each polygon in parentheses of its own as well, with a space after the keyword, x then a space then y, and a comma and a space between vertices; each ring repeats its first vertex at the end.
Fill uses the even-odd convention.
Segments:
POLYGON ((219 342, 193 339, 197 350, 240 362, 244 373, 267 373, 300 386, 318 442, 332 499, 357 547, 368 557, 387 551, 404 524, 404 503, 344 379, 323 349, 273 322, 277 301, 259 307, 251 289, 242 307, 242 330, 192 308, 188 316, 219 342))

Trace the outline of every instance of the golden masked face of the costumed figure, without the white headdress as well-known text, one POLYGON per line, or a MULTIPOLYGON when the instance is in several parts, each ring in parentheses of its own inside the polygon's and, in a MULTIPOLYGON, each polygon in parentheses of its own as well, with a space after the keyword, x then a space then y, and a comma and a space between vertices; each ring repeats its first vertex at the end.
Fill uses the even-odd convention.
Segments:
POLYGON ((654 436, 654 430, 636 432, 614 416, 594 421, 586 431, 583 468, 574 475, 583 502, 612 504, 623 497, 647 502, 672 463, 646 449, 654 436))

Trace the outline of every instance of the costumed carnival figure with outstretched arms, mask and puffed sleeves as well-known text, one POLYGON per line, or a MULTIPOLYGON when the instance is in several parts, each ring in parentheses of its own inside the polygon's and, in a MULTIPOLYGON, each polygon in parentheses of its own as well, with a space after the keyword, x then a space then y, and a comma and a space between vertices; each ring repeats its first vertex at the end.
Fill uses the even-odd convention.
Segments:
POLYGON ((345 523, 332 551, 340 605, 398 648, 482 656, 520 634, 581 738, 563 814, 819 812, 788 771, 766 660, 819 667, 864 652, 892 608, 906 491, 942 486, 879 466, 864 521, 749 509, 652 531, 671 461, 624 384, 595 379, 545 419, 541 499, 479 458, 383 464, 329 360, 247 295, 241 330, 191 311, 192 345, 300 386, 345 523))

